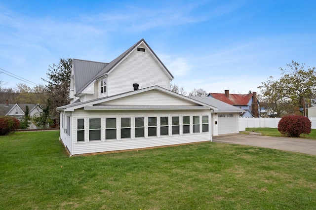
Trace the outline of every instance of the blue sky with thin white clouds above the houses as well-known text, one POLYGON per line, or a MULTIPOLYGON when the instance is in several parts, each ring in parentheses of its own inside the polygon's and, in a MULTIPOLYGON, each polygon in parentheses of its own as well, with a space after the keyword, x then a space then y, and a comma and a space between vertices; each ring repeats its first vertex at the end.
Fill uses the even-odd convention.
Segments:
POLYGON ((144 38, 187 92, 259 92, 292 60, 316 67, 315 11, 315 0, 1 0, 0 71, 45 84, 60 58, 111 62, 144 38))

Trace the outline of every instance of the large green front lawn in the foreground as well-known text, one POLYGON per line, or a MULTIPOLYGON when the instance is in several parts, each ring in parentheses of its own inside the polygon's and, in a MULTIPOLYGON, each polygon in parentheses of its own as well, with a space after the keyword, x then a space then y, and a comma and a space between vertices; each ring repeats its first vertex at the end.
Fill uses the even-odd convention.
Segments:
POLYGON ((0 209, 316 209, 312 155, 203 142, 68 157, 58 136, 0 137, 0 209))

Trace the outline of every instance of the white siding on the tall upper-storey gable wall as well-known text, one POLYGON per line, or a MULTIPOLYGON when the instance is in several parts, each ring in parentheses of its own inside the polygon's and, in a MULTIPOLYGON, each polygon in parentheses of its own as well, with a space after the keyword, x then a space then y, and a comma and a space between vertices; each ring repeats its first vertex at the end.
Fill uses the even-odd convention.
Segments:
POLYGON ((155 59, 146 49, 145 52, 135 49, 112 70, 108 76, 108 95, 133 90, 133 83, 139 84, 139 89, 158 85, 169 89, 169 77, 161 69, 155 59))

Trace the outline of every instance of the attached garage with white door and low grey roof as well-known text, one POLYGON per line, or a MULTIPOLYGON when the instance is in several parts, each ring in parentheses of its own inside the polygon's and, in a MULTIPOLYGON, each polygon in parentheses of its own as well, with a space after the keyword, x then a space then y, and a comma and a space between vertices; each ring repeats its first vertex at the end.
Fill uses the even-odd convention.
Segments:
POLYGON ((245 112, 243 109, 237 108, 233 105, 229 105, 212 97, 189 97, 197 101, 200 101, 204 104, 212 105, 217 108, 217 110, 212 113, 212 136, 239 133, 239 113, 245 112))

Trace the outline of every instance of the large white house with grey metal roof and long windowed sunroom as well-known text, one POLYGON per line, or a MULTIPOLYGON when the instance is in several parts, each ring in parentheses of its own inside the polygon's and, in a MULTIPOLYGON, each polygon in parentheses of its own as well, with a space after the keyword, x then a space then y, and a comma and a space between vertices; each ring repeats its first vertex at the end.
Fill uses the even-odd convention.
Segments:
POLYGON ((212 141, 213 113, 243 111, 174 93, 172 79, 144 39, 110 63, 73 59, 60 140, 70 155, 212 141))

